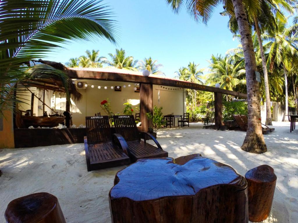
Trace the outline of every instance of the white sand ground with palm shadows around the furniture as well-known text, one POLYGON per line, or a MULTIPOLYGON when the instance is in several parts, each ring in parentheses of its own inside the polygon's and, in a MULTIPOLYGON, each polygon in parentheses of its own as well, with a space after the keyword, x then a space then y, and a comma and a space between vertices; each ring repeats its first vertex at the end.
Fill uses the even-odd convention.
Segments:
MULTIPOLYGON (((274 168, 277 185, 271 214, 264 222, 298 222, 298 129, 274 123, 275 132, 265 135, 268 152, 261 155, 240 149, 245 133, 189 128, 161 129, 158 141, 169 157, 201 153, 232 166, 239 174, 262 164, 274 168)), ((57 145, 0 151, 0 222, 7 204, 21 196, 49 192, 58 197, 69 223, 111 222, 108 192, 123 167, 87 172, 83 144, 57 145)))

